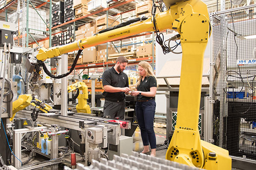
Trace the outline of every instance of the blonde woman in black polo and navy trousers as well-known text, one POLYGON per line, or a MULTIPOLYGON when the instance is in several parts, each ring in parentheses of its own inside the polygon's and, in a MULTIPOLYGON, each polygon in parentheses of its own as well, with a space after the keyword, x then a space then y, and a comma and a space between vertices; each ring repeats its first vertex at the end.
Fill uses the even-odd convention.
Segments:
POLYGON ((136 91, 132 91, 131 95, 137 96, 135 110, 144 145, 142 153, 149 152, 148 145, 150 144, 151 156, 156 156, 157 144, 154 133, 156 102, 154 101, 154 96, 157 93, 157 80, 151 65, 146 61, 142 61, 138 64, 138 71, 140 77, 137 80, 136 91))

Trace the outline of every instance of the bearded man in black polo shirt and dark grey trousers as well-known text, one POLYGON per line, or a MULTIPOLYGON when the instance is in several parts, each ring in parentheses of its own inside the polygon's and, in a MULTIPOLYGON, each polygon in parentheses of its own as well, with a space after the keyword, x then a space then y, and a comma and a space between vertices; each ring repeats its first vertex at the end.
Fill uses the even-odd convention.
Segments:
POLYGON ((102 75, 102 85, 105 91, 103 93, 105 96, 104 117, 125 119, 125 94, 131 91, 128 76, 123 72, 127 64, 128 60, 120 56, 116 59, 116 64, 104 71, 102 75))

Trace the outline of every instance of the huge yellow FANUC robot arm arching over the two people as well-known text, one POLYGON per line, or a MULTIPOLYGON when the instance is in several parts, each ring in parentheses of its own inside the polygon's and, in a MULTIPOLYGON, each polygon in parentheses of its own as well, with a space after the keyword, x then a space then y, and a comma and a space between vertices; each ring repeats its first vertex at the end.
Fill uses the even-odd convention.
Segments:
MULTIPOLYGON (((44 61, 70 51, 119 40, 146 31, 173 29, 180 34, 182 65, 180 73, 177 124, 166 159, 207 170, 231 170, 227 150, 200 140, 198 117, 204 51, 211 27, 206 4, 201 0, 163 0, 167 11, 145 21, 133 23, 73 43, 41 48, 37 59, 44 61)), ((161 44, 163 45, 163 44, 161 44)))

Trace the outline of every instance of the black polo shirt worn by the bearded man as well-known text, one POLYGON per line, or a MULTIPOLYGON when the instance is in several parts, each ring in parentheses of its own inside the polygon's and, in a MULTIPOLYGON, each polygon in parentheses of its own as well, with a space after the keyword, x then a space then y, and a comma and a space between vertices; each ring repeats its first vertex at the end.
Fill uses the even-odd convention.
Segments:
MULTIPOLYGON (((113 87, 124 88, 129 87, 128 76, 125 73, 117 73, 114 67, 104 71, 102 75, 102 85, 111 85, 113 87)), ((123 100, 125 99, 125 92, 103 92, 103 96, 108 100, 123 100)))

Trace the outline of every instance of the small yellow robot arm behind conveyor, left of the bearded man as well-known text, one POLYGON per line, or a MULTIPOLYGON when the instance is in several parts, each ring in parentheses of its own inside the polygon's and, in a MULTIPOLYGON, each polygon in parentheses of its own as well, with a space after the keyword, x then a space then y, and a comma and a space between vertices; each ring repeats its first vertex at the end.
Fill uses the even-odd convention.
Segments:
POLYGON ((88 87, 84 82, 76 82, 67 87, 67 92, 79 89, 78 104, 76 105, 76 111, 78 113, 91 113, 90 106, 87 104, 88 99, 88 87))

